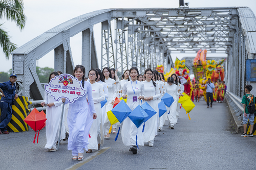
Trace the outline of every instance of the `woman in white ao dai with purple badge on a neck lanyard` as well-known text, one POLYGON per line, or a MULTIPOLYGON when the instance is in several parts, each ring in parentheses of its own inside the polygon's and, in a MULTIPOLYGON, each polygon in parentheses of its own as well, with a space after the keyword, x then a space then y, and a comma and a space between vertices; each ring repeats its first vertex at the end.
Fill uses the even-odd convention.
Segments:
MULTIPOLYGON (((139 70, 137 67, 132 67, 130 69, 131 80, 124 83, 123 85, 123 99, 127 98, 127 105, 133 111, 138 105, 141 104, 140 100, 145 97, 144 84, 137 80, 139 75, 139 70)), ((138 145, 144 145, 142 126, 137 128, 132 120, 127 117, 123 120, 123 126, 121 130, 122 141, 124 145, 130 146, 130 150, 133 154, 137 154, 136 145, 136 134, 138 132, 138 145)))

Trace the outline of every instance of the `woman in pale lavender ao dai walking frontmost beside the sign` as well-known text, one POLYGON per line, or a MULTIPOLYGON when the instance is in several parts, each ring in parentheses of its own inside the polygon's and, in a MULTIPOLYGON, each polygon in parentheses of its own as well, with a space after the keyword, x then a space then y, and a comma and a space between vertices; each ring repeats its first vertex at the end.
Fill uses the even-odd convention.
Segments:
POLYGON ((85 81, 86 69, 82 65, 76 65, 74 77, 80 82, 86 93, 69 105, 68 125, 69 139, 68 150, 72 150, 73 160, 83 159, 83 148, 88 150, 89 130, 93 119, 97 118, 92 97, 92 86, 85 81), (86 99, 88 98, 88 102, 86 99))

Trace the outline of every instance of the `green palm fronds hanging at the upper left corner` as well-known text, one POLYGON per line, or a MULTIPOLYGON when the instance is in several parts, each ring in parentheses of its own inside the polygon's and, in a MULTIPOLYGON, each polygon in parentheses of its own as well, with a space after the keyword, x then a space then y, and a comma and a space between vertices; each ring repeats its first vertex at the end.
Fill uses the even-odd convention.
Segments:
MULTIPOLYGON (((24 29, 26 16, 23 12, 24 6, 22 0, 1 0, 0 1, 0 19, 6 17, 7 20, 16 22, 20 30, 24 29)), ((6 59, 9 59, 10 53, 17 47, 16 44, 11 42, 11 37, 8 32, 1 28, 3 23, 0 24, 0 46, 3 48, 6 59)))

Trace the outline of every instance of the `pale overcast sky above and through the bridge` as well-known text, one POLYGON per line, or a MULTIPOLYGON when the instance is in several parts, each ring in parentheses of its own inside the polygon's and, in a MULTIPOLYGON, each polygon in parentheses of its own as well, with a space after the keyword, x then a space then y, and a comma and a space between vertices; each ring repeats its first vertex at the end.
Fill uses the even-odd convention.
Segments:
MULTIPOLYGON (((256 13, 256 1, 255 0, 188 0, 190 8, 196 7, 250 7, 254 13, 256 13)), ((14 22, 1 20, 0 23, 4 23, 1 26, 2 29, 8 31, 12 37, 11 40, 17 46, 21 46, 38 35, 50 30, 51 28, 72 19, 76 16, 86 14, 92 11, 109 8, 178 8, 179 0, 168 1, 155 1, 155 0, 97 0, 97 1, 78 1, 78 0, 25 0, 25 14, 27 16, 25 29, 20 32, 14 22)), ((100 57, 100 24, 94 27, 97 55, 100 57)), ((71 49, 74 64, 81 63, 81 33, 78 33, 71 38, 71 49)), ((1 48, 2 51, 2 48, 1 48)), ((216 56, 215 54, 212 54, 216 56)), ((175 57, 182 58, 182 55, 172 54, 173 59, 175 57)), ((196 56, 196 54, 185 54, 184 56, 196 56)), ((207 56, 211 56, 208 54, 207 56)), ((5 55, 0 52, 0 71, 7 71, 12 67, 12 59, 5 59, 5 55)), ((100 61, 100 60, 98 60, 100 61)), ((38 64, 40 67, 54 67, 53 63, 53 51, 42 57, 38 64)), ((100 67, 100 65, 99 65, 100 67)))

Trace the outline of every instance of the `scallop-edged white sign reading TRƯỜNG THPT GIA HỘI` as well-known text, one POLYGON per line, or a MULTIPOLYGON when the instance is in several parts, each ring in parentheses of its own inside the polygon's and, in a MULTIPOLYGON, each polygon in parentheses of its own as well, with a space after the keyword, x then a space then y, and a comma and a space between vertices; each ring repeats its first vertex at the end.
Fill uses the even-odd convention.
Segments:
POLYGON ((86 93, 79 80, 69 74, 55 76, 49 84, 45 85, 45 90, 54 97, 55 101, 66 98, 69 103, 73 103, 79 96, 86 93))

